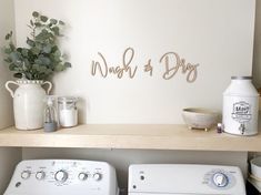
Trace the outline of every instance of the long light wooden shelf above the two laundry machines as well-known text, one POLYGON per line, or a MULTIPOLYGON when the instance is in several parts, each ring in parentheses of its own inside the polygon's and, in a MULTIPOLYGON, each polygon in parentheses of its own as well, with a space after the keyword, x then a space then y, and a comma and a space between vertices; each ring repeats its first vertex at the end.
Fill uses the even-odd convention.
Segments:
POLYGON ((9 127, 0 131, 0 146, 261 152, 261 135, 235 136, 188 130, 185 125, 152 124, 79 125, 53 133, 9 127))

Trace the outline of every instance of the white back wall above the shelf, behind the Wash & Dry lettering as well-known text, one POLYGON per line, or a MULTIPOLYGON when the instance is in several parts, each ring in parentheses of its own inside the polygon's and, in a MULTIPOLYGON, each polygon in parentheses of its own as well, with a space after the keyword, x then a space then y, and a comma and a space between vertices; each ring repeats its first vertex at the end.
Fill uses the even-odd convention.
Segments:
POLYGON ((221 110, 231 75, 252 72, 254 0, 16 0, 17 42, 24 44, 33 10, 68 23, 63 48, 72 69, 54 76, 54 93, 79 95, 82 123, 183 123, 181 110, 221 110), (118 80, 91 75, 92 60, 106 55, 122 64, 135 50, 137 76, 118 80), (163 80, 164 52, 199 63, 188 83, 180 71, 163 80), (142 72, 151 58, 153 78, 142 72))

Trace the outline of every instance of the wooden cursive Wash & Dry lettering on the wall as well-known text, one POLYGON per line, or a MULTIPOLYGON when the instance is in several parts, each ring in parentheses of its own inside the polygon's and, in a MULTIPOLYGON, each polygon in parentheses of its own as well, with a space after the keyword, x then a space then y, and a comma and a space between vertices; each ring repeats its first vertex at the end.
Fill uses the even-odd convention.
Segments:
MULTIPOLYGON (((98 52, 98 58, 99 60, 92 60, 92 76, 100 75, 106 79, 109 75, 112 75, 118 79, 122 79, 123 76, 133 79, 138 71, 149 73, 150 76, 153 76, 153 64, 151 59, 145 60, 142 70, 140 70, 140 66, 131 64, 134 58, 134 49, 132 48, 127 48, 124 50, 120 65, 110 65, 104 55, 100 52, 98 52)), ((180 58, 175 52, 167 52, 162 54, 158 63, 158 65, 162 66, 162 79, 164 80, 170 80, 178 73, 184 74, 185 80, 189 83, 197 80, 199 63, 189 63, 185 59, 180 58)))

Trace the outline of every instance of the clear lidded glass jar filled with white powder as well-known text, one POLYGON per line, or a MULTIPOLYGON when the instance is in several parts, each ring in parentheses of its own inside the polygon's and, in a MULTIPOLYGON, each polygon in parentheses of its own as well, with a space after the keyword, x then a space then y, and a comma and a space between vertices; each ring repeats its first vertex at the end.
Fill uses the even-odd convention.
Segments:
POLYGON ((78 124, 77 101, 76 96, 58 98, 59 123, 62 127, 72 127, 78 124))

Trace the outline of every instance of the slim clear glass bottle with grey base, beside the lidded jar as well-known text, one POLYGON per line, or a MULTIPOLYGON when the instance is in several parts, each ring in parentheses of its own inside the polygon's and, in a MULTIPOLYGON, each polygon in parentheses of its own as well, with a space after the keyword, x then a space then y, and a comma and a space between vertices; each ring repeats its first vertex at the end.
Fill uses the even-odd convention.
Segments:
POLYGON ((57 110, 56 110, 56 98, 51 95, 46 96, 46 107, 44 107, 44 132, 54 132, 58 129, 57 123, 57 110))

